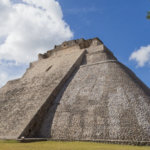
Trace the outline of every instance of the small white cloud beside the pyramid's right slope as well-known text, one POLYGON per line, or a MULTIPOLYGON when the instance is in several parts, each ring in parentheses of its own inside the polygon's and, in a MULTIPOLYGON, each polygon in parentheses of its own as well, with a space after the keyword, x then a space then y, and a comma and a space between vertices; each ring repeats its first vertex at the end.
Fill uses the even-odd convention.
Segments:
POLYGON ((140 49, 131 54, 129 60, 135 60, 137 62, 137 67, 150 64, 150 45, 146 47, 141 46, 140 49))

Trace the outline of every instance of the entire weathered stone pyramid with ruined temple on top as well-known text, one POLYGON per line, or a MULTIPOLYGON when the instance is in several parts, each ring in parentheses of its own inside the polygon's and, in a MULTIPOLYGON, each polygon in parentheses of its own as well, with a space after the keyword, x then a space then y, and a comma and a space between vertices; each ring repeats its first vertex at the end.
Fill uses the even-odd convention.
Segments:
POLYGON ((65 41, 0 89, 0 139, 150 145, 150 89, 98 38, 65 41))

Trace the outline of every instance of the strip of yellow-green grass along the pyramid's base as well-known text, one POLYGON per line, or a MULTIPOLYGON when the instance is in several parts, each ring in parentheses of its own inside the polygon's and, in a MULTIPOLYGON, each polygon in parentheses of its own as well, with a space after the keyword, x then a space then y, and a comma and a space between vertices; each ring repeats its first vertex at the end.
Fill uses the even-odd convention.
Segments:
POLYGON ((33 142, 0 141, 0 150, 150 150, 150 147, 102 144, 92 142, 33 142))

